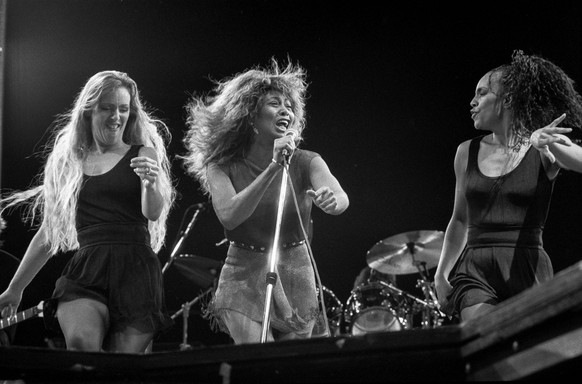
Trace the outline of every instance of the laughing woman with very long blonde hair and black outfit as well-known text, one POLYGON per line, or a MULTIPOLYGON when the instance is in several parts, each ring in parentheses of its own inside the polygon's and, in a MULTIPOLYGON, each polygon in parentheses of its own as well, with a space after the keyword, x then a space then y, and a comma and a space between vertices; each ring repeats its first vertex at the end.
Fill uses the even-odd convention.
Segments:
POLYGON ((68 349, 140 353, 171 325, 156 254, 175 198, 169 138, 127 74, 87 81, 57 120, 39 185, 2 200, 40 227, 0 308, 14 313, 46 261, 76 250, 53 292, 68 349))

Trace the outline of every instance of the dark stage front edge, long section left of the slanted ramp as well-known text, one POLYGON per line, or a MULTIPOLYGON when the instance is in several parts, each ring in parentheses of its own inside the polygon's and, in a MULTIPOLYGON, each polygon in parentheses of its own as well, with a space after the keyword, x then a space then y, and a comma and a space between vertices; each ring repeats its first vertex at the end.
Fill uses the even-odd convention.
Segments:
POLYGON ((462 381, 460 329, 440 327, 145 355, 0 349, 0 379, 123 383, 462 381))

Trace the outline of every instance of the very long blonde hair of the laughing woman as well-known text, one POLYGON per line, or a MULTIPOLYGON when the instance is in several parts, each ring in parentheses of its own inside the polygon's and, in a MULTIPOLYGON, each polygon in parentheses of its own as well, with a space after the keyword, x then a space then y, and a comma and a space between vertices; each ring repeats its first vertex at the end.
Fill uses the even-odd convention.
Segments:
POLYGON ((36 177, 36 186, 16 191, 0 201, 2 211, 25 204, 24 217, 31 223, 41 222, 46 229, 45 242, 50 253, 77 249, 75 218, 79 191, 83 182, 83 161, 93 144, 91 111, 102 95, 117 89, 129 91, 130 115, 123 140, 129 145, 143 144, 154 148, 160 164, 157 182, 163 197, 163 209, 148 228, 151 246, 158 252, 164 244, 166 222, 176 191, 171 179, 165 144, 171 139, 168 127, 150 116, 139 96, 137 84, 126 73, 102 71, 93 75, 79 92, 72 109, 54 124, 53 139, 47 146, 44 170, 36 177))

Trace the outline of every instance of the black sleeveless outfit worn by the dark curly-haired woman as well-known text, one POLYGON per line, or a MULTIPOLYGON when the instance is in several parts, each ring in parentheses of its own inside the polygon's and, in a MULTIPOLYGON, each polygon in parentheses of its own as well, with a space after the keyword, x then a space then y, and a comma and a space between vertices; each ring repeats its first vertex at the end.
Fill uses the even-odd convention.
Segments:
POLYGON ((554 180, 533 147, 509 173, 485 176, 477 163, 483 137, 469 146, 467 244, 449 276, 453 290, 443 308, 453 316, 475 304, 498 304, 553 276, 542 233, 554 180))

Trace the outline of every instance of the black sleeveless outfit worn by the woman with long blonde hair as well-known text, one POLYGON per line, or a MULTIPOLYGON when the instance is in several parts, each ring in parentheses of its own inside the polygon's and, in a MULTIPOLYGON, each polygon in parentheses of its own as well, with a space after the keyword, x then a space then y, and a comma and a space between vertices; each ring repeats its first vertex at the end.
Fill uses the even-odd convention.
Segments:
POLYGON ((56 282, 53 299, 90 298, 107 305, 110 330, 157 332, 172 325, 160 261, 141 212, 141 181, 129 166, 132 146, 109 171, 83 177, 77 204, 79 250, 56 282))

